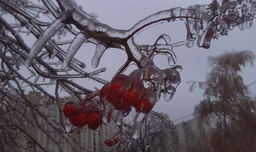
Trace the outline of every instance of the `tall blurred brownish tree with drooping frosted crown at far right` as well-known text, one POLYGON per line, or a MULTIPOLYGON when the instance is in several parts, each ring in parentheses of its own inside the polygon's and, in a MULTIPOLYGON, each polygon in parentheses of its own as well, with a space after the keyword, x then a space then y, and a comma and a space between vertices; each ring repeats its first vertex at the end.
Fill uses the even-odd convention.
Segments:
POLYGON ((213 69, 206 81, 193 82, 190 88, 199 84, 205 90, 205 99, 196 106, 195 115, 213 124, 210 143, 214 151, 256 150, 256 101, 240 75, 242 67, 253 65, 254 59, 251 51, 210 57, 213 69))

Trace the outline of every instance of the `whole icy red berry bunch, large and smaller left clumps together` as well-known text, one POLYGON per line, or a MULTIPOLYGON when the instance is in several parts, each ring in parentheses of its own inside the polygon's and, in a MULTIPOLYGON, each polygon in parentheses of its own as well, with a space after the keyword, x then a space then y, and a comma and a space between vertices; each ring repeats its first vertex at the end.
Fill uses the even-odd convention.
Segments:
POLYGON ((119 74, 110 83, 105 84, 100 90, 100 102, 98 106, 85 106, 82 103, 69 101, 64 106, 64 115, 72 125, 82 128, 86 124, 93 130, 97 130, 102 124, 102 116, 107 111, 107 124, 110 121, 112 110, 116 109, 126 117, 131 108, 137 112, 149 113, 156 99, 155 93, 144 87, 143 81, 136 75, 119 74))

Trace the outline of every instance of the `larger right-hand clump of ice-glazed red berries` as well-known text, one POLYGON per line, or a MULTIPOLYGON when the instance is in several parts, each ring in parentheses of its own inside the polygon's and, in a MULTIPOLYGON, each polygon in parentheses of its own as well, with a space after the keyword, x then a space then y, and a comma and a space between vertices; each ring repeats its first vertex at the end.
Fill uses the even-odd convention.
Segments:
POLYGON ((110 102, 116 110, 130 111, 133 106, 137 112, 148 113, 153 108, 152 95, 154 92, 145 88, 138 77, 119 74, 101 88, 100 102, 103 107, 110 102))

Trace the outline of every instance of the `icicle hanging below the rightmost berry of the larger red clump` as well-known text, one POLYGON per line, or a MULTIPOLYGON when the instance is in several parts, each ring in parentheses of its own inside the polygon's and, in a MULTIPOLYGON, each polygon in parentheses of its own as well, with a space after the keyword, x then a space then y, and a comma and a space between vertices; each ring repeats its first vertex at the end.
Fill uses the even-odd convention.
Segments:
POLYGON ((134 118, 134 127, 131 132, 131 137, 133 137, 133 139, 138 139, 138 137, 140 136, 140 131, 142 129, 142 123, 146 116, 147 116, 146 113, 136 112, 136 116, 134 118))

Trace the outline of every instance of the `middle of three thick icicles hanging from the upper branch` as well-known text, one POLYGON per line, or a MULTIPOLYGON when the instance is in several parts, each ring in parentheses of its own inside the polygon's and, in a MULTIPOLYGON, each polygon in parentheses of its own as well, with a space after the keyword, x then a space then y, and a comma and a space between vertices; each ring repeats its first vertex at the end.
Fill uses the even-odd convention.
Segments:
POLYGON ((67 68, 69 67, 69 64, 71 63, 72 59, 74 58, 76 52, 80 49, 82 44, 86 41, 86 35, 84 32, 79 32, 75 38, 73 39, 72 43, 69 45, 67 49, 67 55, 63 62, 63 67, 67 68))

